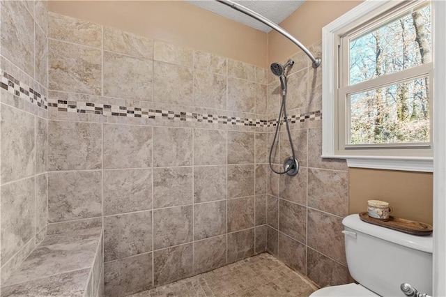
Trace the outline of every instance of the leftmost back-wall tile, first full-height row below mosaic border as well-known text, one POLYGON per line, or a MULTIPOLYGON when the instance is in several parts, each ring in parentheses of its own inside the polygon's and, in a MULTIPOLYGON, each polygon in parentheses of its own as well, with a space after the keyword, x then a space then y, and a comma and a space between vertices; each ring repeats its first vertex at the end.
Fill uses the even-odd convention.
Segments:
POLYGON ((48 170, 100 169, 101 154, 100 124, 48 122, 48 170))

